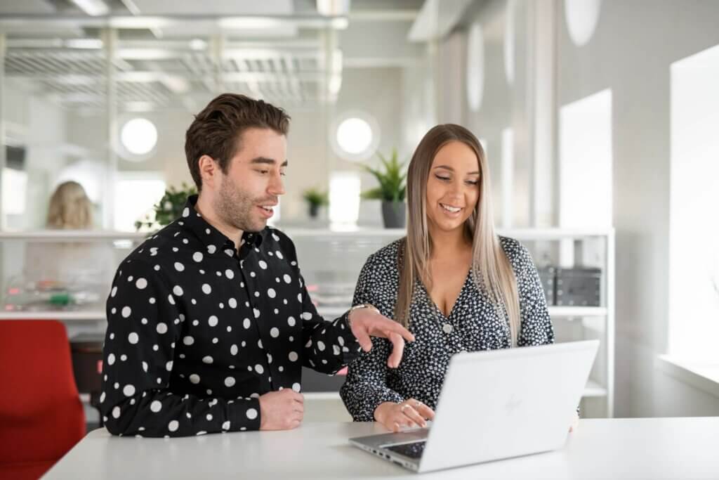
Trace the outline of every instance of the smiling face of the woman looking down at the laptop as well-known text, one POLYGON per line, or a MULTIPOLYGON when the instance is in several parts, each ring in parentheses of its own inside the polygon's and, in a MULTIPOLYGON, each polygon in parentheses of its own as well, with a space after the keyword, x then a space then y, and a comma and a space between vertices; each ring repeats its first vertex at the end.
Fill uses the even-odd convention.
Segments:
POLYGON ((480 198, 480 166, 474 150, 462 142, 440 148, 427 180, 427 219, 444 232, 461 228, 480 198))

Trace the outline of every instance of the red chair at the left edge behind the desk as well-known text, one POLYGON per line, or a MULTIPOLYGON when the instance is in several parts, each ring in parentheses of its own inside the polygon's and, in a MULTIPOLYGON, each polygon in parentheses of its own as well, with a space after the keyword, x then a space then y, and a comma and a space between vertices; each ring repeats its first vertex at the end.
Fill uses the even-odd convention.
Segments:
POLYGON ((85 435, 70 344, 55 320, 0 320, 0 479, 37 479, 85 435))

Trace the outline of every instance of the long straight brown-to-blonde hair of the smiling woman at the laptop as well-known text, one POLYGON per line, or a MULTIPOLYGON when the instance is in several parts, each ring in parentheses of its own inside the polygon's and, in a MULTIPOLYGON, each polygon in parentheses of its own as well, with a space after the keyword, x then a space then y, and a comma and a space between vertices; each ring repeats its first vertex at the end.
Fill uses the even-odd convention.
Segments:
POLYGON ((464 235, 472 243, 472 279, 485 291, 500 317, 508 319, 511 344, 516 345, 520 325, 517 281, 507 255, 495 233, 490 172, 482 145, 472 132, 456 124, 441 124, 424 135, 412 155, 407 173, 407 236, 400 243, 398 268, 400 285, 395 320, 405 327, 416 279, 431 289, 429 259, 432 239, 427 227, 427 181, 437 152, 449 142, 462 142, 477 155, 480 167, 480 195, 477 207, 464 222, 464 235))

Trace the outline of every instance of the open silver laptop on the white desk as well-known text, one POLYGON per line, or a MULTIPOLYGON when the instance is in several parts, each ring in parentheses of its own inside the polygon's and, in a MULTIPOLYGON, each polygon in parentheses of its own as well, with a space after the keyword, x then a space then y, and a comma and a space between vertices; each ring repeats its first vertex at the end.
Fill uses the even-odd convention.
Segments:
POLYGON ((452 357, 431 427, 350 438, 416 472, 562 448, 599 340, 452 357))

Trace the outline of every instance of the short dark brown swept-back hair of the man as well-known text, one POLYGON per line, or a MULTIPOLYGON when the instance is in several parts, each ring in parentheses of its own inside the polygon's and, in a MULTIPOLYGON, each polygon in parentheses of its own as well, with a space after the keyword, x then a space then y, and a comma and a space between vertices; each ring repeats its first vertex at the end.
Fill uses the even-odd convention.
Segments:
POLYGON ((185 155, 198 191, 202 176, 198 160, 209 155, 227 173, 229 160, 241 148, 242 133, 249 128, 269 128, 287 135, 290 116, 262 100, 238 94, 221 94, 195 115, 185 134, 185 155))

